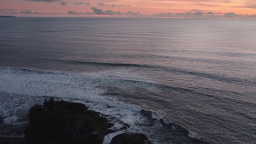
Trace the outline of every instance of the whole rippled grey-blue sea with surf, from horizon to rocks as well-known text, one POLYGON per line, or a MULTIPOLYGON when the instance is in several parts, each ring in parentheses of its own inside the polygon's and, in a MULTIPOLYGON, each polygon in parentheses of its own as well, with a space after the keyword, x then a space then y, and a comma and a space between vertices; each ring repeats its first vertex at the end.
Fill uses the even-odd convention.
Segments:
POLYGON ((0 115, 26 123, 31 105, 56 97, 154 143, 191 141, 158 122, 138 126, 140 109, 196 139, 256 143, 255 47, 256 20, 1 18, 0 115))

